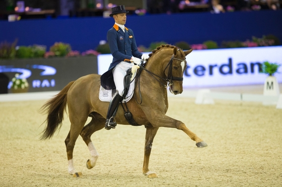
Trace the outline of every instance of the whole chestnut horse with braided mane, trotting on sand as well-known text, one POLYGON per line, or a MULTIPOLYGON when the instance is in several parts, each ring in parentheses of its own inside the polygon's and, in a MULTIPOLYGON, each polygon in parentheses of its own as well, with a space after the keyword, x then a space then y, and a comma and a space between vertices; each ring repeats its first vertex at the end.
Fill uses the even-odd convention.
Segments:
MULTIPOLYGON (((148 177, 157 177, 156 172, 149 170, 149 158, 152 143, 159 127, 177 128, 194 140, 197 147, 207 146, 183 122, 166 116, 168 110, 167 87, 170 87, 170 92, 175 95, 182 93, 183 72, 187 66, 185 57, 191 51, 182 51, 168 44, 162 45, 153 50, 147 63, 137 70, 138 76, 135 78, 133 95, 135 99, 129 100, 127 107, 135 122, 146 127, 143 174, 148 177)), ((74 177, 82 175, 82 172, 75 169, 73 162, 74 146, 79 135, 82 136, 91 154, 91 158, 86 163, 88 169, 95 166, 99 156, 92 143, 91 135, 104 129, 109 106, 109 102, 100 101, 98 98, 101 86, 100 77, 100 75, 91 74, 68 83, 56 96, 41 107, 41 111, 48 114, 45 120, 47 124, 41 139, 49 139, 61 127, 66 104, 68 106, 71 125, 64 142, 68 173, 74 177), (92 120, 85 125, 88 117, 92 117, 92 120)), ((118 124, 129 125, 124 117, 122 107, 118 108, 115 120, 118 124)))

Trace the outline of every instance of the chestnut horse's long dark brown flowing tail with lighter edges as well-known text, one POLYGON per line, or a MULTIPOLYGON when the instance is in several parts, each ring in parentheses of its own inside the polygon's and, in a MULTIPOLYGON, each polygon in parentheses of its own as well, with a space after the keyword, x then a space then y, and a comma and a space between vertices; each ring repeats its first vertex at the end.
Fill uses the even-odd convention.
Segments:
POLYGON ((47 118, 43 122, 47 122, 41 140, 50 139, 57 129, 60 129, 63 120, 63 113, 66 110, 66 96, 67 92, 74 84, 75 81, 68 83, 57 95, 47 101, 41 108, 40 111, 47 113, 47 118))

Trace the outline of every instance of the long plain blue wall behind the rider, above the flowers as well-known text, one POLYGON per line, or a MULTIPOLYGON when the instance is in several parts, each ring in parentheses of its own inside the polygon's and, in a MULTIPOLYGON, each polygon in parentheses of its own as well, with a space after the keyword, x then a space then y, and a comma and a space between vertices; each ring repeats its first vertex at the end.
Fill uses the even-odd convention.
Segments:
MULTIPOLYGON (((273 34, 282 41, 282 11, 233 12, 225 14, 181 13, 150 16, 127 16, 126 27, 134 31, 137 45, 148 47, 152 42, 175 44, 185 41, 198 44, 213 40, 245 41, 252 36, 273 34)), ((18 45, 69 43, 73 50, 95 49, 106 40, 113 26, 112 18, 84 17, 68 19, 37 19, 18 22, 0 21, 0 41, 18 45)))

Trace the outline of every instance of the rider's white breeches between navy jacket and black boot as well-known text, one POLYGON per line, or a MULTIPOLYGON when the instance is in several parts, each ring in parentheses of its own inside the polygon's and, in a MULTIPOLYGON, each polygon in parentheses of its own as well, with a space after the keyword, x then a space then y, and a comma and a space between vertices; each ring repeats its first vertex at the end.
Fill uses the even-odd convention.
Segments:
POLYGON ((124 76, 126 75, 127 70, 132 68, 132 66, 134 66, 133 63, 121 61, 113 69, 115 87, 120 96, 122 96, 123 91, 124 91, 124 85, 123 85, 124 76))

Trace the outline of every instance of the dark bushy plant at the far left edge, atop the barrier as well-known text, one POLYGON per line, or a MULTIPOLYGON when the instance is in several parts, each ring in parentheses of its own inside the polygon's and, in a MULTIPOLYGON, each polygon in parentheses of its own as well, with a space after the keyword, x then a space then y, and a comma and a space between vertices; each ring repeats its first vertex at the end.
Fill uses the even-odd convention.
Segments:
POLYGON ((13 59, 16 56, 16 45, 18 40, 13 43, 7 41, 0 43, 0 59, 13 59))

